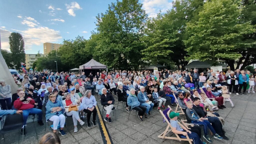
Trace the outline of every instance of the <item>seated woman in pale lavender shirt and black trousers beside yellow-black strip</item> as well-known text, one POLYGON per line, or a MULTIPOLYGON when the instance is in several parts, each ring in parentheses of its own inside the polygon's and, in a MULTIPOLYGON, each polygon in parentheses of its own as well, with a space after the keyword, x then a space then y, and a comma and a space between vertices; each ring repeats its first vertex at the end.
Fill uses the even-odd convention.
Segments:
POLYGON ((84 94, 84 98, 82 99, 82 108, 83 111, 87 113, 87 127, 91 127, 90 125, 90 118, 91 118, 91 114, 92 115, 92 124, 93 126, 96 126, 96 115, 97 115, 97 110, 96 107, 97 106, 97 101, 95 99, 95 97, 92 95, 92 91, 91 90, 87 90, 84 94))

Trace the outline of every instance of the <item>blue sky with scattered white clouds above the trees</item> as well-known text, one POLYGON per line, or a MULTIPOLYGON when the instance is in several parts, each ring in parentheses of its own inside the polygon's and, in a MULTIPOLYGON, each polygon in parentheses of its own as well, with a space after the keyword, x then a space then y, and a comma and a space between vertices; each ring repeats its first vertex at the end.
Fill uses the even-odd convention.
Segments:
MULTIPOLYGON (((172 8, 173 0, 140 0, 150 17, 172 8)), ((9 35, 23 35, 25 53, 43 53, 43 43, 59 43, 78 35, 88 39, 98 13, 116 0, 9 0, 0 2, 2 49, 9 50, 9 35)))

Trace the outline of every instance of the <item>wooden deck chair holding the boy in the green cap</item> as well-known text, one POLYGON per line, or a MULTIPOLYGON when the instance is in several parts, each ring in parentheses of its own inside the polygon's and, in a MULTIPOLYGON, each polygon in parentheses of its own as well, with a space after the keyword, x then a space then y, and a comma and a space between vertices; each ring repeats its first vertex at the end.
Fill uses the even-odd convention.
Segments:
MULTIPOLYGON (((165 109, 164 112, 167 113, 169 110, 170 110, 170 107, 168 107, 167 109, 165 109)), ((162 110, 160 110, 160 113, 161 113, 161 115, 163 116, 164 120, 167 122, 168 125, 167 125, 165 131, 162 132, 162 133, 158 136, 158 138, 162 138, 162 139, 174 139, 174 140, 179 140, 179 141, 182 141, 182 140, 183 140, 183 141, 188 141, 189 144, 192 144, 193 139, 189 139, 188 136, 186 136, 186 138, 180 138, 179 135, 176 134, 176 133, 174 133, 176 137, 168 137, 168 136, 166 136, 170 131, 172 131, 173 128, 172 128, 172 126, 171 126, 171 124, 170 124, 170 121, 169 121, 168 116, 167 116, 167 118, 166 118, 166 115, 164 115, 164 113, 163 113, 162 110)), ((178 123, 179 123, 179 125, 182 125, 182 124, 180 124, 180 122, 178 122, 178 123)))

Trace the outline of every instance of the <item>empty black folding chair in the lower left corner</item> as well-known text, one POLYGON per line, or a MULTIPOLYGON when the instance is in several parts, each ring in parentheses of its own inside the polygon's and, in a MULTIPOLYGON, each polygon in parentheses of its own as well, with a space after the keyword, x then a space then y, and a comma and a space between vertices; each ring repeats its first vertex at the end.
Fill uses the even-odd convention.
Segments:
POLYGON ((6 115, 4 121, 4 127, 0 130, 4 138, 4 133, 23 128, 22 132, 22 141, 24 139, 24 122, 23 122, 23 115, 22 114, 13 114, 13 115, 6 115))

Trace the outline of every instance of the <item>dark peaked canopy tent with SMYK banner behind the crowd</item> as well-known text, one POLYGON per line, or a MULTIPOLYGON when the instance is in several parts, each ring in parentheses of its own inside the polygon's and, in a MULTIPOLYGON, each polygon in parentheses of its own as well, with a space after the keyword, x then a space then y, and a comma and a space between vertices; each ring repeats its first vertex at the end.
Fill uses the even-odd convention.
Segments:
POLYGON ((98 61, 95 61, 93 58, 90 61, 88 61, 86 64, 79 66, 80 73, 82 73, 83 71, 86 73, 85 74, 86 76, 89 75, 90 73, 92 73, 92 75, 95 75, 94 72, 100 72, 99 69, 106 69, 106 71, 108 71, 107 68, 108 67, 106 65, 103 65, 98 61))

